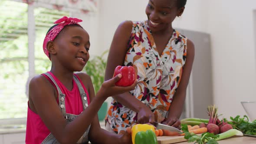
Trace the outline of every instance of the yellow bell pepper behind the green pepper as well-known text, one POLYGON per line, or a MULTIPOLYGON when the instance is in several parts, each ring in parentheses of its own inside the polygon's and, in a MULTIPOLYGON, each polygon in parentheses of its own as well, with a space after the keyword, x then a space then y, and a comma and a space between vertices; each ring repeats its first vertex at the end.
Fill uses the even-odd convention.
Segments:
MULTIPOLYGON (((155 130, 154 130, 154 126, 153 125, 150 125, 150 124, 135 124, 132 128, 131 128, 131 139, 132 139, 132 144, 135 144, 135 136, 138 132, 140 131, 144 131, 146 132, 147 130, 151 130, 153 131, 153 134, 155 136, 155 130)), ((141 133, 139 133, 141 135, 141 133)), ((143 134, 146 134, 146 133, 143 133, 143 134)), ((148 132, 147 132, 148 134, 148 132)), ((146 139, 147 137, 145 137, 146 139)), ((151 137, 151 138, 154 138, 154 137, 151 137)), ((156 136, 155 136, 155 139, 156 139, 156 136)), ((156 140, 153 140, 153 141, 156 141, 156 140)))

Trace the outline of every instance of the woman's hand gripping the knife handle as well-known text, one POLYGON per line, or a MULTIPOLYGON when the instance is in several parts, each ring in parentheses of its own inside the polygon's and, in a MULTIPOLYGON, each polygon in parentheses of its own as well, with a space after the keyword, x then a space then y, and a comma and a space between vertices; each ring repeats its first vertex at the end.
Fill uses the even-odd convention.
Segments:
POLYGON ((138 112, 138 123, 146 124, 155 121, 154 113, 148 107, 142 107, 138 112))

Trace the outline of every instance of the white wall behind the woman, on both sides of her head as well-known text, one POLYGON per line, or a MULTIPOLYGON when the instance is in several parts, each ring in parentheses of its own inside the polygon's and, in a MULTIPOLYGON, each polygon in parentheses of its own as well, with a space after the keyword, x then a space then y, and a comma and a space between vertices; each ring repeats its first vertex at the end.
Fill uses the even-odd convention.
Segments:
MULTIPOLYGON (((109 49, 121 21, 145 20, 147 3, 99 0, 99 49, 109 49)), ((187 0, 183 15, 173 23, 175 28, 210 33, 214 104, 227 118, 246 114, 240 101, 256 101, 253 10, 255 0, 187 0)))

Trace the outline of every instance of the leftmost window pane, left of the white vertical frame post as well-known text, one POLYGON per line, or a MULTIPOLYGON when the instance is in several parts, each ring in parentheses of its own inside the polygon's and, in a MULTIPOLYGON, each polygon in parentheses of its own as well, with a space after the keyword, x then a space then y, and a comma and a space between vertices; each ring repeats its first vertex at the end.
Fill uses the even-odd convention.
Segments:
POLYGON ((0 10, 0 118, 26 117, 27 4, 2 0, 0 10))

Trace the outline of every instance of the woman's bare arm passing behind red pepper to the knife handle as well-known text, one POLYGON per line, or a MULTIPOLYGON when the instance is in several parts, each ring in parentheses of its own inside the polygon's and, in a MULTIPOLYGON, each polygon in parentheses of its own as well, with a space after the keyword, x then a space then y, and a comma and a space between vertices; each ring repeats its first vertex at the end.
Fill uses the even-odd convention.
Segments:
MULTIPOLYGON (((123 65, 125 61, 125 55, 127 52, 128 41, 131 36, 131 29, 132 29, 131 21, 122 22, 116 29, 115 35, 113 37, 111 47, 108 53, 108 61, 107 61, 106 70, 105 70, 105 80, 112 78, 116 66, 123 65)), ((139 113, 138 114, 139 123, 148 123, 149 121, 154 121, 154 115, 151 112, 151 110, 146 105, 144 105, 141 101, 139 101, 137 98, 131 95, 130 92, 125 92, 120 95, 113 95, 112 97, 116 101, 120 102, 122 105, 125 105, 131 110, 139 113)))

